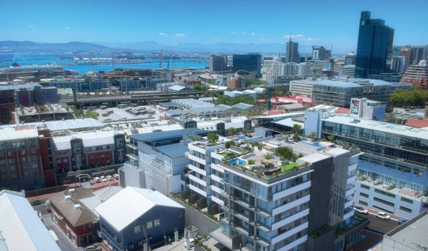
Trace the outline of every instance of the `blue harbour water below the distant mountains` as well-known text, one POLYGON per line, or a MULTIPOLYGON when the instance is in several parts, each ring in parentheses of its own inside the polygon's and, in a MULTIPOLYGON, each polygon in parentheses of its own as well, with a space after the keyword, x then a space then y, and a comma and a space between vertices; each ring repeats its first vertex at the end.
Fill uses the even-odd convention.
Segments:
MULTIPOLYGON (((24 65, 46 65, 60 64, 64 68, 74 70, 80 74, 92 71, 90 65, 70 65, 73 60, 58 59, 59 56, 72 57, 72 54, 0 54, 0 66, 12 66, 12 63, 17 62, 21 66, 24 65)), ((108 57, 106 55, 95 55, 94 57, 108 57)), ((159 69, 158 59, 142 59, 142 63, 131 64, 132 69, 159 69)), ((208 59, 172 59, 170 60, 170 68, 205 68, 209 65, 208 59)), ((162 60, 162 69, 167 67, 167 60, 162 60)), ((97 71, 111 71, 112 64, 94 64, 93 68, 97 71)), ((129 68, 129 64, 115 64, 115 68, 129 68)))

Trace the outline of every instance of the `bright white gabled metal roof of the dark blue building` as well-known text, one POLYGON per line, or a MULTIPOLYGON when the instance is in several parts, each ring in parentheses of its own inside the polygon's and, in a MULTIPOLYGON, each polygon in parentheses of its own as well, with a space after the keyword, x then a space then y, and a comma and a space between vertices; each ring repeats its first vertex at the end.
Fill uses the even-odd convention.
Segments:
POLYGON ((126 187, 95 210, 116 230, 122 231, 156 205, 184 209, 182 205, 157 191, 126 187))

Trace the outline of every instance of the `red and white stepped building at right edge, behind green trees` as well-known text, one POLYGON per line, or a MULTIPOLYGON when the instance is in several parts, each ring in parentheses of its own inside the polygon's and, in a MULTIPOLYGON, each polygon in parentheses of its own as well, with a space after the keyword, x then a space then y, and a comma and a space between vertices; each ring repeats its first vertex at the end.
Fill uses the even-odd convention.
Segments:
POLYGON ((407 68, 401 83, 412 84, 413 86, 421 86, 422 89, 428 90, 428 64, 426 60, 421 60, 419 64, 412 64, 407 68))

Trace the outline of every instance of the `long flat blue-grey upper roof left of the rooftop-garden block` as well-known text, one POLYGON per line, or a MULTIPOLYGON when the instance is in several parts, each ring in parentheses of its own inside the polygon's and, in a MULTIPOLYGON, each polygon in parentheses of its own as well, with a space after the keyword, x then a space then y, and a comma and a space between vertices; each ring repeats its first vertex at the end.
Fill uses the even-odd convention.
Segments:
POLYGON ((205 131, 198 128, 180 129, 180 130, 155 132, 155 133, 134 134, 134 135, 130 135, 129 138, 135 139, 138 141, 161 141, 166 139, 180 139, 183 137, 183 135, 189 135, 190 133, 203 135, 203 134, 210 133, 210 131, 205 131))

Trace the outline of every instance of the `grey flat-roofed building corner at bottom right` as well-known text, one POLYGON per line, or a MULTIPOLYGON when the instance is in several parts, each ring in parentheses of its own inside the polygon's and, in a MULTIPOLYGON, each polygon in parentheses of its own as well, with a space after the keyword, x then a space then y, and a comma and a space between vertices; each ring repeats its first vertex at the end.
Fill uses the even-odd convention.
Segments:
POLYGON ((428 211, 383 236, 382 251, 425 251, 428 249, 428 211))

